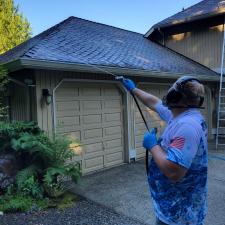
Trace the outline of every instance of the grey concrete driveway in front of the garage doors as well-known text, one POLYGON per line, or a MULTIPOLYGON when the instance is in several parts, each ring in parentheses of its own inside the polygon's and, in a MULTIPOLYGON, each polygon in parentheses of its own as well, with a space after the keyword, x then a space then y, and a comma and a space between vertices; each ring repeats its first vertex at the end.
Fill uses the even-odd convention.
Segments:
MULTIPOLYGON (((225 151, 209 152, 208 178, 209 210, 205 225, 225 225, 225 151)), ((121 215, 154 224, 144 161, 85 176, 74 191, 121 215)))

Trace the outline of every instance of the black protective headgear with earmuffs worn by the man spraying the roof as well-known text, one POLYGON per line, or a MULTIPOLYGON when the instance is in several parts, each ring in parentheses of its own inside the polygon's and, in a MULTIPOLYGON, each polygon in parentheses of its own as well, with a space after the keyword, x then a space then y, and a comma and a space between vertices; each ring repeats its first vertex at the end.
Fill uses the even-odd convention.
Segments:
POLYGON ((201 81, 198 80, 195 77, 191 77, 191 76, 181 77, 169 89, 167 95, 163 99, 164 104, 168 107, 171 107, 171 108, 201 108, 201 106, 204 102, 204 97, 199 96, 199 95, 195 95, 192 92, 185 89, 185 84, 187 82, 190 82, 190 81, 197 81, 198 83, 201 84, 201 81), (185 100, 185 99, 194 99, 194 98, 199 98, 199 104, 197 106, 193 106, 193 105, 179 106, 179 105, 176 105, 182 99, 185 100))

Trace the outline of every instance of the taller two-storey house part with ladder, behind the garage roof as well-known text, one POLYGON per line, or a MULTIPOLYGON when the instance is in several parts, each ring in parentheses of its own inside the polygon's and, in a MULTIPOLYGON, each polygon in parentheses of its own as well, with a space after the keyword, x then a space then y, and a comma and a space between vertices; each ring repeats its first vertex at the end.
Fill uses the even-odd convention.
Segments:
MULTIPOLYGON (((225 1, 204 0, 155 24, 145 37, 221 73, 224 67, 221 65, 224 57, 224 16, 225 1)), ((212 91, 214 129, 209 133, 213 134, 216 134, 218 94, 218 89, 212 91)))

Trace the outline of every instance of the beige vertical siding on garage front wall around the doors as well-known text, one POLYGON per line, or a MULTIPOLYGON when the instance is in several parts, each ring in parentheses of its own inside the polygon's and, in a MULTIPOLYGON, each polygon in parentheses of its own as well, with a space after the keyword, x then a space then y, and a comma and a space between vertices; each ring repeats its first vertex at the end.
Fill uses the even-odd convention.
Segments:
MULTIPOLYGON (((41 129, 48 132, 50 135, 54 132, 54 125, 53 125, 53 104, 46 105, 42 101, 42 89, 49 89, 50 93, 52 93, 53 89, 60 83, 62 79, 74 79, 74 80, 83 80, 86 79, 93 80, 93 82, 112 82, 112 80, 107 75, 95 75, 95 74, 85 74, 85 73, 75 73, 75 72, 63 72, 63 71, 44 71, 44 70, 37 70, 35 72, 36 76, 36 100, 37 100, 37 121, 41 129), (100 79, 101 78, 101 79, 100 79), (109 80, 110 79, 110 80, 109 80), (101 80, 101 81, 100 81, 101 80)), ((141 78, 140 78, 141 79, 141 78)), ((140 81, 140 80, 139 80, 140 81)), ((138 83, 138 81, 136 80, 138 83)), ((174 81, 164 81, 161 82, 152 81, 145 82, 145 86, 148 86, 151 90, 151 87, 155 87, 157 85, 158 88, 162 87, 162 93, 166 92, 166 87, 171 85, 174 81), (166 82, 166 83, 165 83, 166 82), (164 83, 164 84, 163 84, 164 83)), ((141 83, 140 83, 141 84, 141 83)), ((122 87, 121 87, 122 89, 122 87)), ((160 92, 160 93, 161 93, 160 92)), ((160 95, 160 97, 162 97, 160 95)), ((128 146, 128 149, 135 149, 137 143, 136 133, 135 130, 135 117, 139 113, 136 109, 134 100, 132 96, 129 94, 124 93, 124 126, 126 127, 124 132, 124 142, 128 146)), ((209 128, 209 139, 212 139, 211 129, 214 127, 212 124, 213 120, 213 111, 215 111, 213 103, 214 98, 211 96, 211 87, 206 85, 206 100, 205 100, 205 107, 206 109, 203 110, 203 114, 206 116, 208 128, 209 128)), ((150 124, 150 127, 152 124, 150 124)), ((125 155, 125 161, 129 161, 128 154, 125 155)))

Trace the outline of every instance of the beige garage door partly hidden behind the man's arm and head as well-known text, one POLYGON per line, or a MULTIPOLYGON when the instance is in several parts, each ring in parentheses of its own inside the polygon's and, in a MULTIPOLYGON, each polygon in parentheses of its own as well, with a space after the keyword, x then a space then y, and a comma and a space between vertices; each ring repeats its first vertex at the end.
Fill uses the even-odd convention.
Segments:
MULTIPOLYGON (((160 97, 162 99, 163 96, 165 96, 165 94, 167 93, 169 89, 169 85, 159 85, 159 84, 142 85, 139 88, 153 95, 156 95, 157 97, 160 97)), ((160 120, 159 116, 155 112, 145 107, 142 103, 140 103, 140 106, 147 120, 149 128, 157 127, 158 133, 160 134, 164 130, 164 127, 166 124, 162 120, 160 120)), ((207 107, 209 107, 207 94, 205 95, 205 101, 204 101, 203 107, 205 107, 205 109, 202 109, 201 113, 206 118, 206 123, 209 123, 210 117, 208 115, 209 110, 207 110, 207 107)), ((143 135, 145 132, 146 132, 146 127, 136 107, 135 109, 135 147, 136 147, 136 155, 138 159, 143 158, 145 156, 145 149, 142 147, 143 135)))

